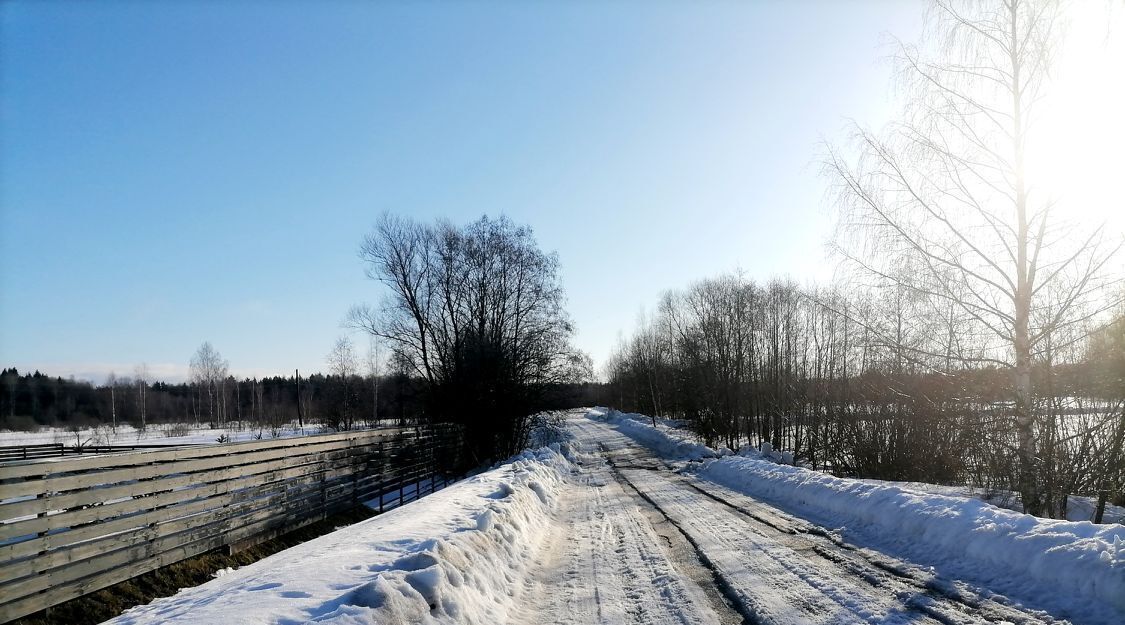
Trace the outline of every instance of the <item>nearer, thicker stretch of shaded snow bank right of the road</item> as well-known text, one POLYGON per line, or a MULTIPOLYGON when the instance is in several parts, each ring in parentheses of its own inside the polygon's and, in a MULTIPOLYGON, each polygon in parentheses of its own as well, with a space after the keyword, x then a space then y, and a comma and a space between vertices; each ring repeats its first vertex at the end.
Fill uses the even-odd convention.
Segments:
POLYGON ((975 499, 834 478, 759 458, 706 462, 700 477, 889 543, 1025 596, 1078 596, 1125 612, 1125 527, 1036 518, 975 499), (1016 574, 1014 574, 1016 573, 1016 574))

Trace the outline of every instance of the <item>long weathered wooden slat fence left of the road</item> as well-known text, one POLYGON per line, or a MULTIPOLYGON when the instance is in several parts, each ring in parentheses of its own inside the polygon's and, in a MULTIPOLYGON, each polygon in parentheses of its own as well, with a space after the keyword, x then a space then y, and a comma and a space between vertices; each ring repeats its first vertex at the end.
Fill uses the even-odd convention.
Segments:
POLYGON ((400 502, 408 484, 432 491, 458 441, 394 428, 2 464, 0 623, 360 501, 400 502))

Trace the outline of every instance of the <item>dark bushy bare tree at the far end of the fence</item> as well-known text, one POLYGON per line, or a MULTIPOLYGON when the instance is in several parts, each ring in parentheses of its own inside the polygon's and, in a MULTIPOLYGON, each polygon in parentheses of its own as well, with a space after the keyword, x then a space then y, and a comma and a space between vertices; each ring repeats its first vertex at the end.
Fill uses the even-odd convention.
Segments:
POLYGON ((381 309, 353 308, 350 325, 386 341, 393 362, 424 381, 433 418, 474 423, 479 460, 518 451, 529 414, 583 369, 558 259, 504 217, 454 227, 389 215, 360 257, 389 297, 381 309))

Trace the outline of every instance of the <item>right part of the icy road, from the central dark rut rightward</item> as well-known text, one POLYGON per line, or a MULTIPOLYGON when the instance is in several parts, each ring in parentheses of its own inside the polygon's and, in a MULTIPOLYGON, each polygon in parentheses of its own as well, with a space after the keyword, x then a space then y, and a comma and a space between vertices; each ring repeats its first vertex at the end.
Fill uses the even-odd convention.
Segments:
POLYGON ((622 479, 698 545, 752 622, 1055 622, 971 596, 952 582, 916 579, 909 567, 874 558, 819 526, 722 487, 701 488, 608 426, 573 425, 582 437, 597 440, 622 479))

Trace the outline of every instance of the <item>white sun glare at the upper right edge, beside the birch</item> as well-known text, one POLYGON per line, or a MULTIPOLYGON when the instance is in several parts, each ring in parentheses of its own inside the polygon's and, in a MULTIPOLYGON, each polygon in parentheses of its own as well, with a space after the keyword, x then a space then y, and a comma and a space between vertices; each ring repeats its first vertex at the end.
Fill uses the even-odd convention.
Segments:
POLYGON ((1027 151, 1033 192, 1087 225, 1125 232, 1125 10, 1076 2, 1027 151))

